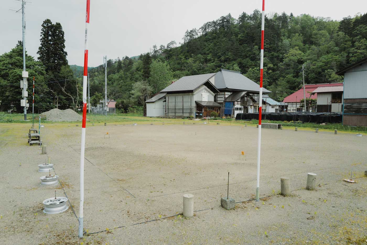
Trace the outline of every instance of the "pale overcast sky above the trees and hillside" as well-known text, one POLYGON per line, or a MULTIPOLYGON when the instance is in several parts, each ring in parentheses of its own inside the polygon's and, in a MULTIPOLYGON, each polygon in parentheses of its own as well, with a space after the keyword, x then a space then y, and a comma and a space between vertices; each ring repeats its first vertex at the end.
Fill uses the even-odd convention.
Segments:
MULTIPOLYGON (((38 57, 41 24, 49 18, 60 22, 65 32, 69 64, 83 65, 85 0, 27 0, 26 50, 38 57)), ((21 3, 1 0, 0 54, 8 52, 22 40, 21 3)), ((91 0, 88 66, 98 66, 103 55, 116 59, 149 51, 153 44, 177 43, 187 29, 226 15, 238 18, 241 12, 261 9, 261 0, 91 0)), ((367 10, 366 0, 266 0, 265 12, 310 14, 340 20, 367 10)), ((363 14, 364 12, 362 12, 363 14)), ((265 30, 266 33, 266 30, 265 30)), ((266 34, 265 34, 266 35, 266 34)))

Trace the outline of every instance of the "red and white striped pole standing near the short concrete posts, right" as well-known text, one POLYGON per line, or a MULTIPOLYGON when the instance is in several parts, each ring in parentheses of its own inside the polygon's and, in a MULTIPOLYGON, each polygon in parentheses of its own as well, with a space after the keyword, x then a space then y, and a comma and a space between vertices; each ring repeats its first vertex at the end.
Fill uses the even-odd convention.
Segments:
POLYGON ((265 0, 262 0, 261 17, 261 59, 260 59, 260 89, 259 89, 259 130, 257 141, 257 176, 256 176, 256 201, 260 201, 260 149, 261 149, 261 112, 262 112, 262 73, 264 65, 264 26, 265 26, 265 0))

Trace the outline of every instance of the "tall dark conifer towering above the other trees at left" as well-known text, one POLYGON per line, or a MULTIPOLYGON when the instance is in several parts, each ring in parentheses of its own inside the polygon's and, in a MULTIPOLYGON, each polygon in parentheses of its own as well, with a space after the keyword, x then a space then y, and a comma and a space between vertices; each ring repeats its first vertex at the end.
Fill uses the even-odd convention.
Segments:
POLYGON ((65 51, 65 37, 59 22, 52 24, 45 19, 41 29, 41 46, 38 48, 38 59, 45 65, 46 72, 59 72, 61 66, 68 65, 65 51))

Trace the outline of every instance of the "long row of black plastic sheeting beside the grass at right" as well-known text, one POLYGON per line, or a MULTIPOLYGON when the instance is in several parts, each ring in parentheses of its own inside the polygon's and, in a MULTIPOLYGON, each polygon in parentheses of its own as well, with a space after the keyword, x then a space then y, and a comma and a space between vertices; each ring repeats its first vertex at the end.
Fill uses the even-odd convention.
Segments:
MULTIPOLYGON (((258 113, 237 113, 236 120, 258 120, 258 113)), ((301 121, 312 123, 341 123, 341 112, 279 112, 279 113, 265 113, 261 114, 262 120, 271 121, 301 121)))

